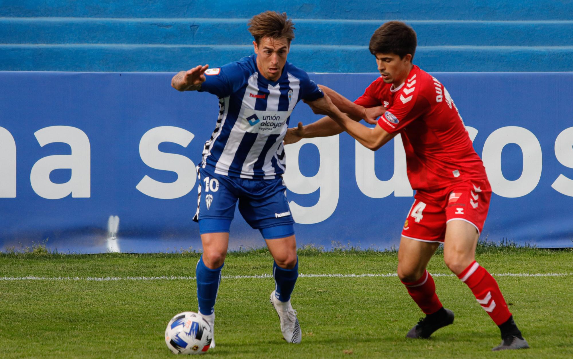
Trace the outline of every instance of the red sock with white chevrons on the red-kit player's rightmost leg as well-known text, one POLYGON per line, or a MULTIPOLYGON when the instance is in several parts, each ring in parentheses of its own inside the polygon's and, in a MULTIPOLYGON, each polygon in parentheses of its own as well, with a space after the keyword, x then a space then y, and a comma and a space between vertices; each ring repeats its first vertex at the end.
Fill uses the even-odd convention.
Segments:
POLYGON ((458 274, 458 278, 468 285, 473 295, 476 296, 477 302, 497 325, 503 324, 511 317, 496 280, 476 261, 458 274))

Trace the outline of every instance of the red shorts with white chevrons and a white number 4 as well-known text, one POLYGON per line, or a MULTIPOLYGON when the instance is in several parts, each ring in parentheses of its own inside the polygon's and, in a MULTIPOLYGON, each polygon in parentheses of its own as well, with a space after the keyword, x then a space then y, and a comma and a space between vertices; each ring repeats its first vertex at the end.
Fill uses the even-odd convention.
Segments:
POLYGON ((469 180, 435 191, 417 191, 402 236, 422 242, 444 242, 446 224, 464 220, 484 228, 492 188, 488 180, 469 180))

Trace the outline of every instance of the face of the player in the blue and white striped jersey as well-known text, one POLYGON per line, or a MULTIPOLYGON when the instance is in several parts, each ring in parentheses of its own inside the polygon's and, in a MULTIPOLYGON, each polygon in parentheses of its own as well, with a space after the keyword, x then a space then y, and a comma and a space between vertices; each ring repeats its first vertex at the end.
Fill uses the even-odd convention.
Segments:
POLYGON ((267 80, 277 81, 285 66, 289 43, 286 38, 264 37, 260 44, 253 41, 254 52, 257 54, 257 67, 267 80))

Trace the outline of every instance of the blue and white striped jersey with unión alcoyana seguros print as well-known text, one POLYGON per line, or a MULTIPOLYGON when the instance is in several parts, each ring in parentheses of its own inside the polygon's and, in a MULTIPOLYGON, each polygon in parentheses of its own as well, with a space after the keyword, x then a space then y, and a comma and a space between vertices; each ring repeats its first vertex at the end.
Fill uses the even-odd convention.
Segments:
POLYGON ((242 178, 272 179, 285 171, 282 139, 300 100, 324 94, 303 70, 286 62, 276 82, 257 69, 257 55, 205 72, 199 91, 219 97, 219 117, 205 143, 202 167, 242 178))

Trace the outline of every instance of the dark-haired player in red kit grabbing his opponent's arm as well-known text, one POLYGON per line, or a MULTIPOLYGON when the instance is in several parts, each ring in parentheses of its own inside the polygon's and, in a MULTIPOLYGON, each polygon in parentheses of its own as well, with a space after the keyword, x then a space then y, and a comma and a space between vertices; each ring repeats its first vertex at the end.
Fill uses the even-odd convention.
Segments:
POLYGON ((454 321, 454 313, 442 306, 426 270, 439 243, 444 243, 446 265, 468 285, 501 330, 503 341, 493 350, 528 348, 496 280, 475 260, 492 193, 484 165, 448 90, 413 65, 416 45, 411 27, 398 21, 384 23, 370 40, 380 77, 364 94, 353 103, 322 87, 340 111, 355 121, 340 114, 304 127, 299 123, 289 129, 285 143, 344 130, 375 151, 394 136, 402 136, 407 175, 416 194, 402 230, 398 277, 426 314, 406 337, 428 338, 454 321), (356 121, 366 108, 375 106, 383 108, 374 129, 356 121))

